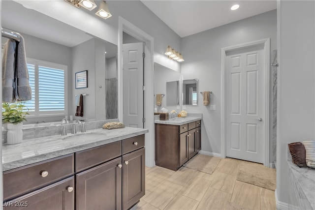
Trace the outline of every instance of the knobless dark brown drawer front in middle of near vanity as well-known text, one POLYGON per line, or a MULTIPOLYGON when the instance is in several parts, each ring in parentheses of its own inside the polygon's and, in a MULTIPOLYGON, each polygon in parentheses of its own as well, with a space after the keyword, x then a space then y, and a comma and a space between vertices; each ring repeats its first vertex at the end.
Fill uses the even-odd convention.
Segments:
POLYGON ((75 171, 79 172, 122 155, 121 141, 75 153, 75 171))

